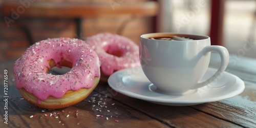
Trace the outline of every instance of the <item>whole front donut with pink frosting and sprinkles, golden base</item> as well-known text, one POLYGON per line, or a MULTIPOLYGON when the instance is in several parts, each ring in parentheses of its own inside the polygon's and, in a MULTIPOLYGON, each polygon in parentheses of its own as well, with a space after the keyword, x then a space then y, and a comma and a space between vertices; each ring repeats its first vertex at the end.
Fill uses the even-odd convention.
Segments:
POLYGON ((46 109, 60 109, 86 98, 100 77, 97 54, 84 41, 53 38, 36 42, 15 61, 16 88, 29 102, 46 109), (63 75, 48 74, 66 66, 63 75))

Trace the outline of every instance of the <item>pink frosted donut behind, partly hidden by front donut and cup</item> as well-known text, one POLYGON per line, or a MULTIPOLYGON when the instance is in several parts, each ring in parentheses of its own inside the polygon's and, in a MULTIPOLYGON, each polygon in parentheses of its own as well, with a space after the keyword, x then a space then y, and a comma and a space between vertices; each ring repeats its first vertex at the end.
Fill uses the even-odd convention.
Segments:
POLYGON ((98 54, 101 72, 106 76, 121 69, 140 66, 139 47, 126 37, 100 33, 88 37, 86 42, 98 54))

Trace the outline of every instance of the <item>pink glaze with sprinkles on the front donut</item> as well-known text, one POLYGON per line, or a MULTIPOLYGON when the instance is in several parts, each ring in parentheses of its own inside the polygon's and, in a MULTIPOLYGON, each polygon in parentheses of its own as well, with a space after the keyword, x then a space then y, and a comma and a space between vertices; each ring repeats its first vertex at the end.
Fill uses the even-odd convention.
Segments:
POLYGON ((36 42, 16 60, 14 66, 17 89, 24 88, 40 100, 49 96, 62 97, 68 90, 91 88, 94 77, 100 76, 97 54, 84 41, 71 38, 54 38, 36 42), (72 62, 72 69, 63 75, 46 73, 48 60, 53 59, 61 68, 60 60, 72 62))

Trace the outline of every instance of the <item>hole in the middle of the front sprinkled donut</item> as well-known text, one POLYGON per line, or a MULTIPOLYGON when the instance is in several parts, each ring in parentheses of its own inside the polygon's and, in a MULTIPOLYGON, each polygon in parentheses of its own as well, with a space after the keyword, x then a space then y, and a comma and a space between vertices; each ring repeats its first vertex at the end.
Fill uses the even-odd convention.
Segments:
POLYGON ((63 75, 72 69, 72 62, 65 59, 62 59, 60 62, 58 62, 58 65, 61 66, 61 68, 56 66, 56 63, 53 59, 48 60, 48 64, 50 69, 46 67, 46 72, 52 75, 63 75))

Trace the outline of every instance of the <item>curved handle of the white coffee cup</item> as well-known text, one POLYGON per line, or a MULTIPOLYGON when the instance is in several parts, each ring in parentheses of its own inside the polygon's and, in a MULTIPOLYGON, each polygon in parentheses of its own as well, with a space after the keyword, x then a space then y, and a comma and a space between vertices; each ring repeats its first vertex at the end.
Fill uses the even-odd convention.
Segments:
POLYGON ((207 80, 196 84, 196 86, 191 87, 190 88, 191 90, 202 88, 202 87, 206 86, 207 84, 211 83, 216 78, 218 78, 225 71, 225 69, 227 68, 228 61, 229 61, 229 54, 228 54, 228 51, 225 47, 222 47, 222 46, 206 46, 204 48, 204 54, 206 54, 208 52, 216 52, 220 55, 220 57, 221 57, 221 66, 214 75, 212 75, 207 80))

